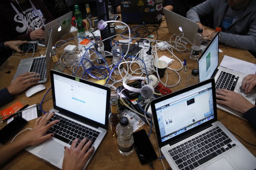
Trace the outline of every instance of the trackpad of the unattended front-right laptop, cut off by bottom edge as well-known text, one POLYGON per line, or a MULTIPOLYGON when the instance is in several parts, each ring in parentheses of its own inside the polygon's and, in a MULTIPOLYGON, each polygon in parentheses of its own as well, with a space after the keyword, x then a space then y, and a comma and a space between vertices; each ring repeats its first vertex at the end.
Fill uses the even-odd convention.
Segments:
POLYGON ((221 158, 218 161, 204 168, 205 170, 235 170, 226 158, 221 158))

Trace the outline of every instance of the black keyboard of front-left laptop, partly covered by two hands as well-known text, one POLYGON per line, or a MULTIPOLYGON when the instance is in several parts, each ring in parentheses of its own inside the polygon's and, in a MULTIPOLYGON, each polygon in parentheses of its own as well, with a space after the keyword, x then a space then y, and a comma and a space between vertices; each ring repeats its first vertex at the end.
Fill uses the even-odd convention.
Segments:
POLYGON ((60 120, 60 122, 50 127, 47 134, 54 133, 55 138, 67 144, 72 144, 73 140, 75 140, 76 138, 80 139, 77 143, 79 144, 80 141, 84 139, 84 137, 86 137, 87 142, 89 141, 89 139, 93 141, 90 145, 91 147, 100 134, 100 132, 96 130, 93 130, 89 127, 85 127, 84 125, 80 125, 79 123, 73 122, 69 119, 66 119, 56 114, 52 116, 49 122, 52 122, 56 119, 60 120))

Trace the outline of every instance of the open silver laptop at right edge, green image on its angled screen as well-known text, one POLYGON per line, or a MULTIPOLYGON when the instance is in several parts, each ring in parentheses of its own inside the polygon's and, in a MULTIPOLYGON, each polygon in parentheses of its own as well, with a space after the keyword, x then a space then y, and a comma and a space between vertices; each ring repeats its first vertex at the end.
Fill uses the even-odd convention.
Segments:
MULTIPOLYGON (((244 96, 249 102, 253 105, 255 104, 256 90, 254 88, 250 94, 244 94, 244 91, 241 88, 241 82, 243 78, 247 75, 233 71, 229 68, 224 68, 218 65, 218 34, 209 42, 207 48, 198 58, 198 70, 199 70, 199 79, 204 81, 211 77, 214 77, 216 88, 226 88, 227 90, 235 91, 236 93, 244 96), (224 82, 220 82, 221 80, 224 82), (233 81, 233 82, 232 82, 233 81), (232 85, 228 85, 228 84, 232 85)), ((217 103, 217 108, 231 113, 234 116, 238 116, 241 119, 243 118, 242 113, 235 111, 226 105, 221 105, 217 103)), ((245 119, 244 119, 245 120, 245 119)))

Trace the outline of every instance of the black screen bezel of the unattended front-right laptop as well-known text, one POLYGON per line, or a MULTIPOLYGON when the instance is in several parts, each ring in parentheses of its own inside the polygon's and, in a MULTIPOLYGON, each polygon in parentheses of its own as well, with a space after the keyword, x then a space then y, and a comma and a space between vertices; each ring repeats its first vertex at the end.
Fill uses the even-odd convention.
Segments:
POLYGON ((215 80, 213 78, 211 78, 211 79, 208 79, 206 81, 200 82, 198 84, 189 86, 187 88, 183 88, 180 91, 176 91, 176 92, 168 94, 166 96, 162 96, 160 98, 154 99, 154 100, 151 101, 151 110, 152 110, 152 115, 153 115, 153 119, 154 119, 155 130, 156 130, 156 133, 157 133, 157 142, 158 142, 158 145, 159 145, 160 148, 165 146, 166 144, 172 145, 176 142, 179 142, 183 139, 186 139, 187 137, 192 136, 193 134, 197 133, 199 130, 202 130, 204 128, 207 128, 207 127, 211 126, 213 122, 218 120, 218 118, 217 118, 217 106, 216 106, 216 93, 215 93, 215 80), (214 118, 210 119, 209 121, 205 122, 204 124, 198 125, 198 126, 192 128, 190 130, 187 130, 187 131, 183 132, 182 133, 183 138, 180 138, 180 136, 175 136, 173 138, 167 139, 166 141, 162 142, 155 104, 159 103, 159 102, 162 102, 166 99, 169 99, 171 97, 177 96, 179 94, 185 93, 186 91, 190 91, 192 89, 198 88, 202 85, 206 85, 208 83, 212 84, 212 100, 213 100, 212 102, 213 102, 214 118))

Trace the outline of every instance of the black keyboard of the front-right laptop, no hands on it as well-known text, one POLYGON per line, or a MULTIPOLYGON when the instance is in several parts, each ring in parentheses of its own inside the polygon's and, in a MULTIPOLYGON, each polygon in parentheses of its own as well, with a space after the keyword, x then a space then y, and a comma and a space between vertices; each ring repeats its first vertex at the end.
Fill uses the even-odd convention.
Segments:
POLYGON ((168 150, 180 170, 192 170, 235 147, 218 126, 168 150))

